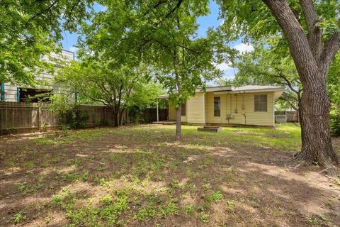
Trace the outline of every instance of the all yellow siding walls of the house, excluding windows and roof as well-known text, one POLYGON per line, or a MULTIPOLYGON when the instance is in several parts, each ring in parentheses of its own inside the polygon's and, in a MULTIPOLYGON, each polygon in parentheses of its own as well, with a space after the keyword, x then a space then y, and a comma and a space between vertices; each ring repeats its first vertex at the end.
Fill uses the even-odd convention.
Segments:
MULTIPOLYGON (((188 123, 231 123, 274 126, 273 101, 273 92, 220 95, 215 95, 213 92, 206 94, 198 93, 186 102, 186 116, 182 116, 181 121, 188 123), (266 112, 254 111, 255 94, 267 94, 268 106, 266 112), (214 96, 220 96, 220 116, 214 116, 214 96), (237 113, 235 113, 235 109, 237 109, 237 113), (232 114, 234 118, 228 121, 227 114, 232 114)), ((169 105, 169 119, 176 120, 176 109, 173 105, 169 105)))

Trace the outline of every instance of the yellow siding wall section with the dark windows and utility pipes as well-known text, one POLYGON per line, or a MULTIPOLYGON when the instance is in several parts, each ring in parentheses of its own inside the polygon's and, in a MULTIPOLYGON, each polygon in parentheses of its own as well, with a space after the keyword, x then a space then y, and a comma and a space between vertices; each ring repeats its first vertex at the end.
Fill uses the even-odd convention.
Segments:
POLYGON ((274 126, 273 92, 246 93, 246 94, 220 94, 208 92, 205 99, 206 123, 235 123, 256 126, 274 126), (267 112, 254 111, 254 95, 267 94, 267 112), (214 116, 214 96, 220 96, 221 116, 214 116), (244 106, 244 108, 242 108, 244 106), (237 113, 235 113, 237 110, 237 113), (227 119, 227 114, 234 118, 227 119), (245 115, 245 116, 244 116, 245 115))

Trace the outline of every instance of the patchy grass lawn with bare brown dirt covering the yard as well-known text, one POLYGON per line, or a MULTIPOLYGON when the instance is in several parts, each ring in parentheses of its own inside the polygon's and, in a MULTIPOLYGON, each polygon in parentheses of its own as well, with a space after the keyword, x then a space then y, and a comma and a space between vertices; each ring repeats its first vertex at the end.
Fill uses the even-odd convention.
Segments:
POLYGON ((295 124, 174 129, 1 137, 0 226, 339 226, 340 179, 277 162, 300 149, 295 124))

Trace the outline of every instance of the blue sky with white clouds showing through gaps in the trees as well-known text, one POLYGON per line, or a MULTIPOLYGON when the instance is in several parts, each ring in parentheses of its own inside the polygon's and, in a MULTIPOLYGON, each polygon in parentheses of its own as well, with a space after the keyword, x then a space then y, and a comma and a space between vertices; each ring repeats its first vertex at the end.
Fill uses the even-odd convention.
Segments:
MULTIPOLYGON (((103 6, 96 4, 94 6, 94 9, 96 11, 101 11, 103 10, 103 6)), ((217 28, 218 26, 220 26, 223 21, 219 19, 218 16, 219 9, 216 2, 210 1, 210 14, 208 16, 202 16, 198 18, 198 24, 200 25, 200 28, 198 29, 198 36, 204 37, 209 27, 217 28)), ((75 48, 74 45, 77 45, 78 36, 79 34, 77 33, 72 34, 64 31, 62 47, 65 50, 71 50, 74 52, 77 51, 77 48, 75 48)), ((231 47, 239 50, 240 52, 252 50, 252 46, 242 43, 242 40, 237 40, 237 42, 232 43, 231 47)), ((229 65, 229 62, 217 65, 217 67, 220 68, 220 70, 223 70, 223 72, 225 73, 225 78, 230 79, 234 77, 234 69, 229 65)), ((237 72, 237 69, 235 70, 237 72)))

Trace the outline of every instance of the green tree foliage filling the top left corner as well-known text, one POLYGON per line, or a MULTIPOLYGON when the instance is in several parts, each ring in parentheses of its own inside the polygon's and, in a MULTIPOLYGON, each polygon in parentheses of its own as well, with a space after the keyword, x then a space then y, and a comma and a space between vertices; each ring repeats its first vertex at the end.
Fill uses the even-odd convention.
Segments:
POLYGON ((4 0, 0 2, 0 81, 34 84, 52 65, 42 59, 57 52, 62 30, 76 31, 91 0, 4 0))

